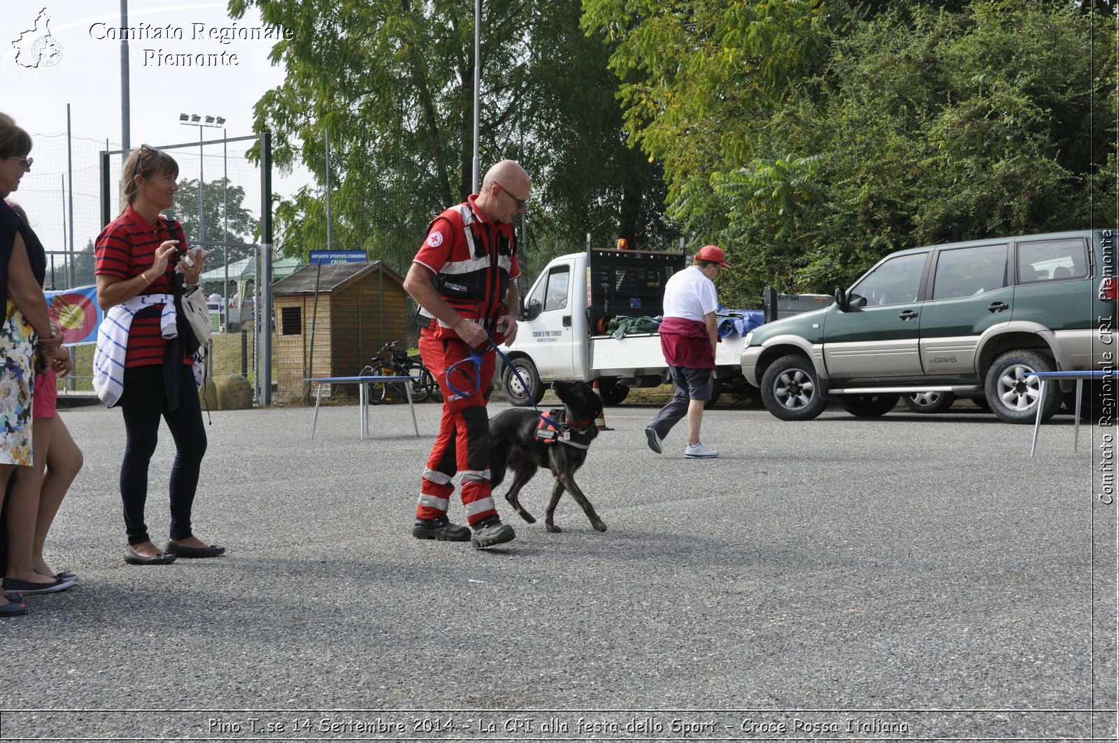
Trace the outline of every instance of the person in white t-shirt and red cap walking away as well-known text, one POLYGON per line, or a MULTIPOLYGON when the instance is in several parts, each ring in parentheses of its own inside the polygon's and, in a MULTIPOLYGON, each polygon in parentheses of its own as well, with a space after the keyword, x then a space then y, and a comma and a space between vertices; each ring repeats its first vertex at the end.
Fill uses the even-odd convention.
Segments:
POLYGON ((715 372, 715 345, 718 323, 715 311, 715 276, 730 269, 726 254, 714 245, 705 245, 692 258, 692 265, 679 271, 665 284, 665 312, 660 323, 660 350, 668 363, 675 394, 645 429, 649 449, 661 452, 661 443, 673 426, 688 418, 687 459, 718 457, 714 449, 699 442, 703 406, 711 399, 711 383, 715 372))

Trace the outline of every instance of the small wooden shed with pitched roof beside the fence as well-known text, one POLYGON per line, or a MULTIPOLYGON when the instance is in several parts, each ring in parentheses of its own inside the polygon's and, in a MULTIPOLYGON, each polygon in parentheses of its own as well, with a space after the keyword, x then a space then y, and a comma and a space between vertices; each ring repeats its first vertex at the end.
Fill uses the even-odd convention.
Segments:
POLYGON ((305 265, 272 295, 281 396, 302 393, 305 377, 355 376, 384 344, 407 342, 404 280, 380 261, 305 265))

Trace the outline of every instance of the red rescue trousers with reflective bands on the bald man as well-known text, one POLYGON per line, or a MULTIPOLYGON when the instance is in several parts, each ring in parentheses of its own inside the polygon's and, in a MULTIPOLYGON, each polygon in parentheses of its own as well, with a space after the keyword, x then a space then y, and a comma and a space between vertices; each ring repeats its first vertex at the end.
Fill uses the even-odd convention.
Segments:
POLYGON ((416 517, 435 518, 446 514, 454 492, 452 480, 461 472, 462 505, 467 523, 473 526, 497 514, 489 483, 489 414, 486 412, 496 354, 488 346, 480 352, 482 363, 478 367, 469 360, 470 347, 466 342, 433 335, 426 329, 422 331, 420 358, 443 393, 443 417, 420 481, 416 517), (452 391, 446 379, 446 370, 463 359, 466 361, 452 373, 451 384, 467 396, 452 391))

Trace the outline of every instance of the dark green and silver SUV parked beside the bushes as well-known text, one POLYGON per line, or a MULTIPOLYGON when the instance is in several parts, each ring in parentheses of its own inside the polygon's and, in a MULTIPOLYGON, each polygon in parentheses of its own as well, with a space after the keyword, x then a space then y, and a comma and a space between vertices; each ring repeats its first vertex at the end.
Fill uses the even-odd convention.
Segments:
MULTIPOLYGON (((835 304, 754 329, 742 373, 787 421, 815 418, 829 399, 875 416, 901 395, 939 393, 1032 423, 1035 372, 1115 368, 1115 241, 1096 229, 892 253, 835 304)), ((1112 385, 1098 387, 1113 399, 1112 385)), ((1045 395, 1043 420, 1062 397, 1045 395)))

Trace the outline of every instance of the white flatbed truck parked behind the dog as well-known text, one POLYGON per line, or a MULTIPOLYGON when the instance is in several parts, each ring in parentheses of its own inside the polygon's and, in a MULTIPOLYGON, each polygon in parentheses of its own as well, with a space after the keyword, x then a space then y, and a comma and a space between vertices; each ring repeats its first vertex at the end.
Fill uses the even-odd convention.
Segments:
MULTIPOLYGON (((668 379, 656 332, 606 332, 613 318, 659 317, 665 282, 687 266, 683 253, 587 248, 549 262, 526 292, 517 340, 502 351, 520 373, 523 385, 501 366, 501 385, 514 405, 540 402, 546 383, 598 382, 606 405, 621 403, 630 387, 655 387, 668 379)), ((722 339, 714 402, 725 383, 742 380, 743 337, 722 339)))

